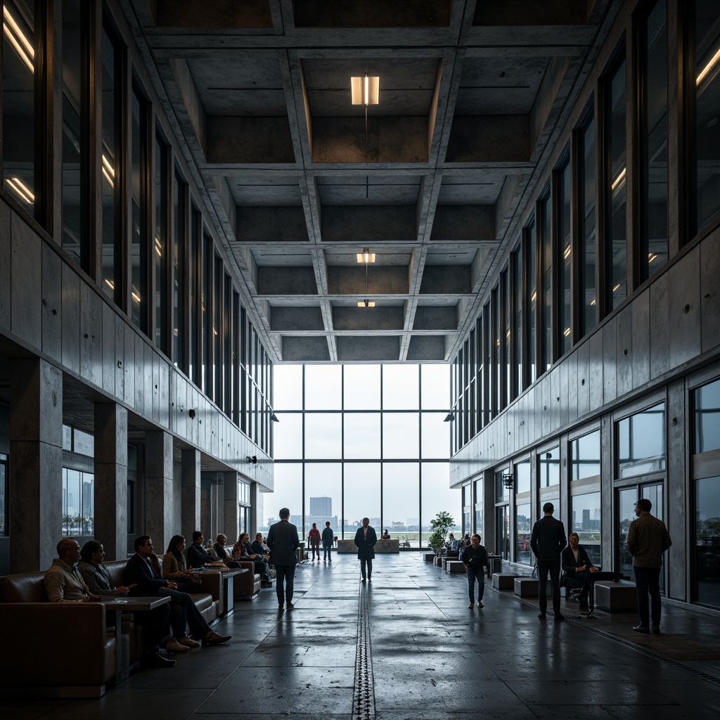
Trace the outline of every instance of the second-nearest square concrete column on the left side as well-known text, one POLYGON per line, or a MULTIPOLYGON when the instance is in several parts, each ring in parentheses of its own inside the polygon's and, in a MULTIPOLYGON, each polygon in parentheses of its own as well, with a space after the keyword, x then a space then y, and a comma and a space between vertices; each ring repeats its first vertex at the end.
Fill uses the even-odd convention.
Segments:
POLYGON ((107 559, 127 555, 127 410, 95 405, 95 538, 107 559))

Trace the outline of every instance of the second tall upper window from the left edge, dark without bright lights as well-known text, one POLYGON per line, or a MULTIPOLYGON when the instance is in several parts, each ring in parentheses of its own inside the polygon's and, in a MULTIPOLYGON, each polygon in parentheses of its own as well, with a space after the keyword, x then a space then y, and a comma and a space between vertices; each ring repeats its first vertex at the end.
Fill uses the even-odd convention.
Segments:
MULTIPOLYGON (((88 223, 88 13, 80 0, 65 0, 63 16, 63 250, 90 269, 88 223)), ((9 23, 6 22, 6 26, 9 23)), ((4 82, 7 82, 5 78, 4 82)))

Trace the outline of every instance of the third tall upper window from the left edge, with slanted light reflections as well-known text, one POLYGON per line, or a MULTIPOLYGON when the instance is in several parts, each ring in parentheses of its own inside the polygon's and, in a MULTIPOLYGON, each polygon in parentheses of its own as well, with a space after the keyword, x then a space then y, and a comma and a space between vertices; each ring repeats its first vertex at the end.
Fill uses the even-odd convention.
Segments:
MULTIPOLYGON (((3 92, 4 99, 4 92, 3 92)), ((120 242, 120 129, 122 52, 107 27, 102 31, 102 289, 119 303, 122 253, 120 242)))

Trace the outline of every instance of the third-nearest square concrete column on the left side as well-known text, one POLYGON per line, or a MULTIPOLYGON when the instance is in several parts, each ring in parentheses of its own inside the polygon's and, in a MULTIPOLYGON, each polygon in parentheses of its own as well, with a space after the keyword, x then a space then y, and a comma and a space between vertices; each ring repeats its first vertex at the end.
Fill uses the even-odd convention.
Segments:
POLYGON ((173 437, 163 430, 145 433, 145 532, 156 552, 165 552, 173 527, 173 437))

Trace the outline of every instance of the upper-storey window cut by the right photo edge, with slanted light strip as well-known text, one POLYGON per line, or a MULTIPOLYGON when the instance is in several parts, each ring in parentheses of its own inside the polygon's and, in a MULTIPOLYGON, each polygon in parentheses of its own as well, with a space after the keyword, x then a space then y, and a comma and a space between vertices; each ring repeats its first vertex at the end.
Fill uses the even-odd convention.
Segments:
POLYGON ((720 4, 696 0, 695 37, 690 52, 695 71, 690 78, 695 96, 696 230, 720 214, 720 4))

